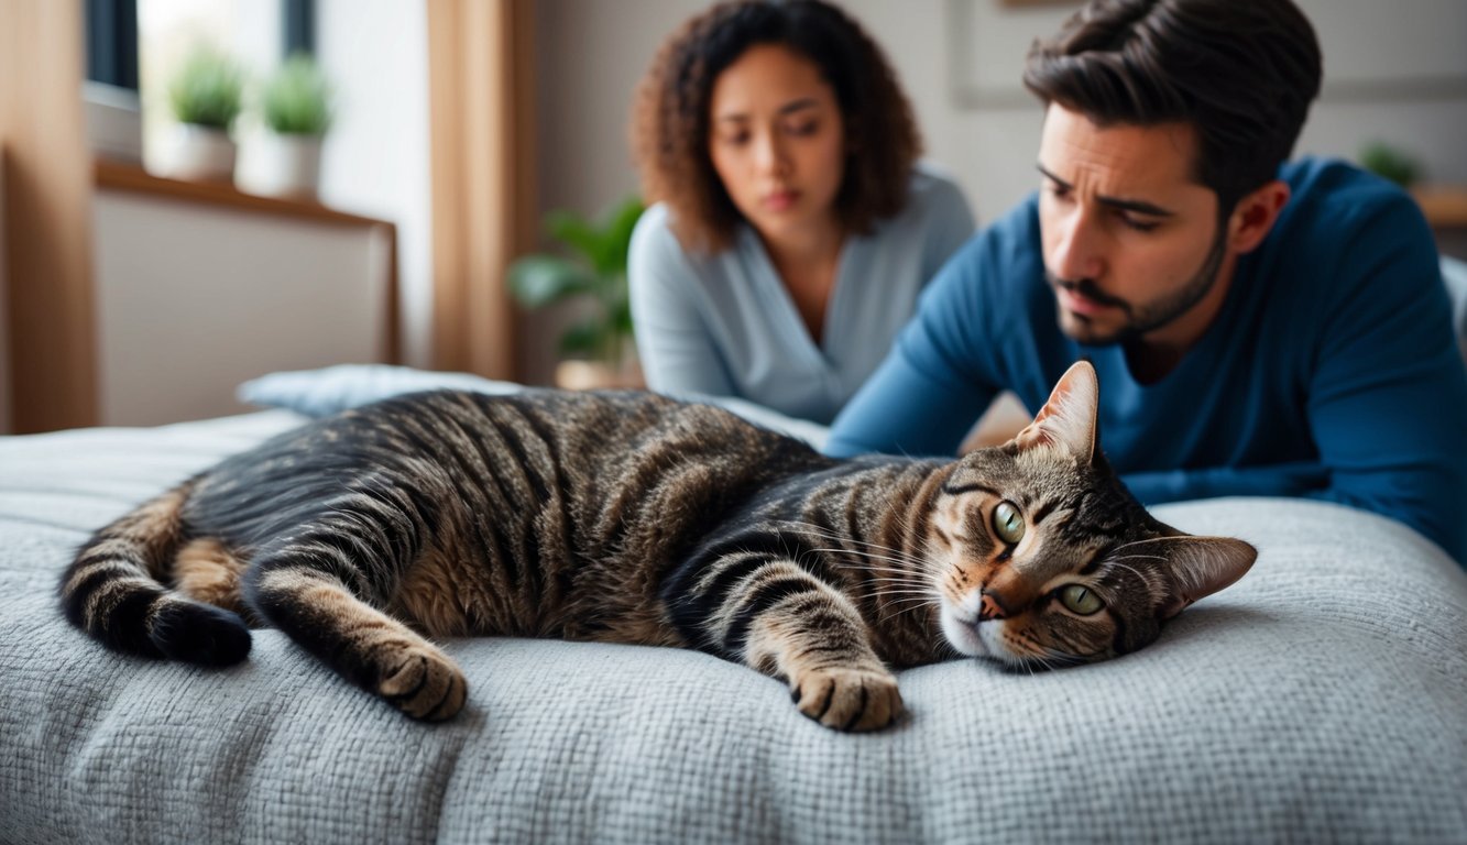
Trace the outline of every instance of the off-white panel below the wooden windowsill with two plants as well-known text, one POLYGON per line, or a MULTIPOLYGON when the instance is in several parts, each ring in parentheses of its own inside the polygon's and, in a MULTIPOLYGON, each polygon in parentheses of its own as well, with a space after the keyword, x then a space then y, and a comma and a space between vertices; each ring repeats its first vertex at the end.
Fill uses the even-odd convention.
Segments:
POLYGON ((381 227, 98 191, 103 425, 238 414, 276 370, 381 361, 381 227))

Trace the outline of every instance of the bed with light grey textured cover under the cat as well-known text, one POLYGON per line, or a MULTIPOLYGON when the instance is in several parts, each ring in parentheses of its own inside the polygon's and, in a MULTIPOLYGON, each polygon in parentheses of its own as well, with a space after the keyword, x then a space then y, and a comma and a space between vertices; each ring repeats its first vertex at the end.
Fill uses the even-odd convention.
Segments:
POLYGON ((274 631, 210 672, 65 623, 91 530, 304 420, 0 439, 0 841, 1467 841, 1467 575, 1336 505, 1156 508, 1257 563, 1109 663, 902 672, 876 735, 694 651, 450 640, 469 703, 424 725, 274 631))

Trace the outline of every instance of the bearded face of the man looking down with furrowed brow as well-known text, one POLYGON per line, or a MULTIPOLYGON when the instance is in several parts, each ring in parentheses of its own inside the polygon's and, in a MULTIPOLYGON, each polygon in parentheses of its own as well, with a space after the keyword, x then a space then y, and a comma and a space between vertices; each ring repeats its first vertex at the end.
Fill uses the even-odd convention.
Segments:
POLYGON ((1065 334, 1081 343, 1165 337, 1219 305, 1209 293, 1232 271, 1232 254, 1216 194, 1193 178, 1196 150, 1182 123, 1100 128, 1049 107, 1039 226, 1065 334))

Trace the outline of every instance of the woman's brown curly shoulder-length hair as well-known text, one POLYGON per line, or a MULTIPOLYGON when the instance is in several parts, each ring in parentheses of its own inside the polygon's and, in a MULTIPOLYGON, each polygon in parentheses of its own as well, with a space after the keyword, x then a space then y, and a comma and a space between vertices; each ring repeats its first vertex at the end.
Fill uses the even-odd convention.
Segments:
POLYGON ((750 47, 779 44, 808 59, 835 89, 845 123, 841 224, 870 233, 907 201, 921 136, 886 54, 841 9, 822 0, 731 0, 682 25, 637 89, 631 145, 643 197, 666 202, 689 251, 732 244, 744 216, 709 156, 713 84, 750 47))

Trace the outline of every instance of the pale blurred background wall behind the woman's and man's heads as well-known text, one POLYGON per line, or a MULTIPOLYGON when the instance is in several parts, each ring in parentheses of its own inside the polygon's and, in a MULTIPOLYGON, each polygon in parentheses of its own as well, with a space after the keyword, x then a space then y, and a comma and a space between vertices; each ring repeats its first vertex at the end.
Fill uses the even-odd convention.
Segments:
MULTIPOLYGON (((625 144, 632 89, 666 34, 707 4, 540 1, 540 176, 549 205, 594 210, 635 188, 625 144)), ((1028 44, 1053 31, 1077 3, 841 4, 886 48, 917 110, 929 157, 956 173, 980 222, 993 220, 1037 185, 1040 111, 1020 84, 1021 62, 1028 44), (984 103, 959 101, 974 89, 984 103)), ((1300 4, 1323 43, 1326 89, 1297 151, 1354 157, 1367 141, 1383 139, 1419 156, 1433 180, 1467 183, 1467 3, 1300 4), (1388 85, 1370 88, 1382 81, 1388 85)))

